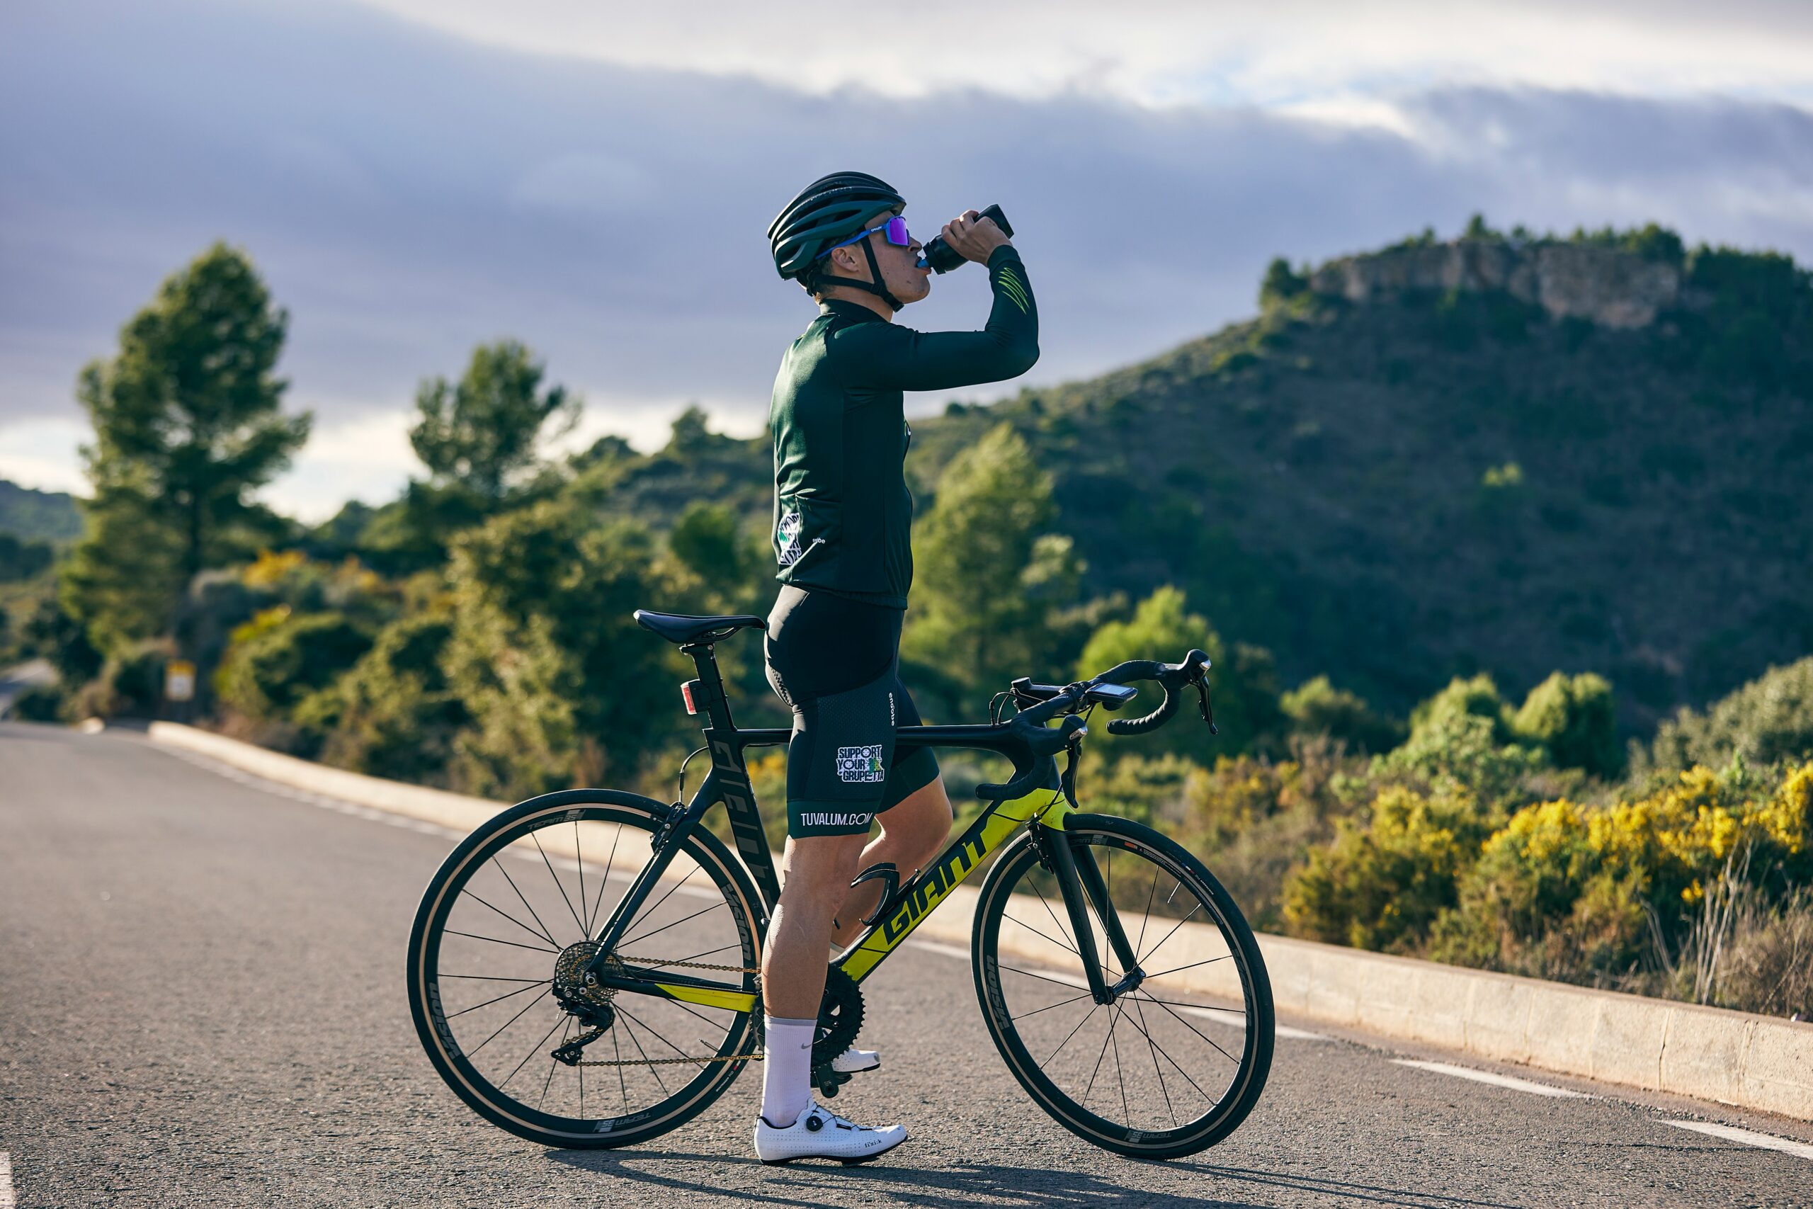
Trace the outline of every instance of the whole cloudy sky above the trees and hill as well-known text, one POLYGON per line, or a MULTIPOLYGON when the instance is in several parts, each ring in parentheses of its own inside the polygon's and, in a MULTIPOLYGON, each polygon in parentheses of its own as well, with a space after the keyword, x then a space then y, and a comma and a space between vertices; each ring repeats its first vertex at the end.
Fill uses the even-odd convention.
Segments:
MULTIPOLYGON (((7 0, 0 477, 80 489, 76 370, 212 239, 290 310, 299 515, 393 493, 415 382, 502 335, 586 395, 578 439, 691 401, 754 433, 810 314, 763 228, 843 167, 919 228, 1006 208, 1032 382, 1474 210, 1809 261, 1813 5, 7 0)), ((983 305, 959 272, 908 321, 983 305)))

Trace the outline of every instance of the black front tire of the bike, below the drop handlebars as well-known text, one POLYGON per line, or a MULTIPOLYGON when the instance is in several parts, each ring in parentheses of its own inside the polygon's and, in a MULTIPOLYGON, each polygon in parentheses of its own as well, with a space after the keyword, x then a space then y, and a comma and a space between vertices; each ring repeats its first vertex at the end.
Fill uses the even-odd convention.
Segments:
MULTIPOLYGON (((972 964, 975 975, 975 995, 983 1008, 983 1019, 988 1024, 988 1033, 1008 1069, 1033 1098, 1033 1102, 1057 1120, 1057 1124, 1064 1126, 1077 1136, 1100 1146, 1102 1149, 1135 1158, 1180 1158, 1184 1155, 1195 1155, 1226 1138, 1235 1127, 1240 1126, 1242 1120, 1246 1120, 1247 1113, 1251 1113, 1253 1106, 1258 1102, 1260 1093, 1265 1089, 1265 1078, 1271 1071, 1276 1024, 1271 1001, 1271 981, 1265 973, 1265 962, 1260 955, 1258 943, 1255 941, 1253 930, 1247 926, 1246 917, 1240 914, 1235 901, 1227 895, 1207 866, 1204 866, 1202 861, 1198 861, 1182 845, 1160 836, 1149 827, 1110 816, 1071 814, 1064 819, 1064 830, 1073 843, 1122 846, 1122 850, 1139 852, 1157 868, 1173 874, 1178 885, 1189 886, 1197 901, 1207 906, 1213 923, 1220 928, 1227 944, 1227 955, 1240 970, 1246 1028, 1238 1069, 1229 1078, 1226 1095, 1213 1104, 1211 1111, 1173 1129, 1140 1129, 1124 1122, 1108 1120, 1106 1117, 1084 1107, 1084 1104, 1079 1104, 1073 1095, 1066 1093, 1053 1082, 1026 1046, 1026 1040, 1021 1037, 1021 1030, 1015 1026, 1015 1019, 1008 1008, 1008 995, 1004 993, 1001 982, 1003 970, 1028 973, 1024 970, 1013 970, 1010 964, 1003 962, 1001 926, 1010 901, 1015 897, 1013 888, 1041 861, 1037 845, 1030 834, 1015 839, 1001 854, 983 883, 975 906, 972 964)), ((1061 906, 1057 910, 1062 912, 1061 906)), ((1059 933, 1062 933, 1064 926, 1066 924, 1057 923, 1059 933)), ((1015 957, 1015 961, 1024 959, 1015 957)), ((1057 979, 1048 977, 1046 981, 1057 979)), ((1081 981, 1071 979, 1071 986, 1077 986, 1079 982, 1081 981)), ((1086 984, 1082 986, 1086 988, 1086 984)), ((1086 995, 1088 991, 1084 990, 1081 997, 1086 995)), ((1093 1013, 1095 1004, 1090 1004, 1090 1010, 1093 1013)), ((1171 1011, 1171 1015, 1182 1020, 1177 1011, 1171 1011)), ((1077 1028, 1081 1030, 1082 1024, 1077 1028)), ((1113 1037, 1113 1028, 1115 1022, 1110 1019, 1110 1039, 1113 1037)), ((1153 1053, 1151 1060, 1155 1069, 1160 1071, 1162 1084, 1159 1051, 1153 1053)), ((1115 1064, 1117 1068, 1120 1066, 1119 1049, 1115 1051, 1115 1064)), ((1084 1102, 1088 1098, 1090 1095, 1086 1091, 1084 1102)), ((1126 1100, 1124 1086, 1122 1098, 1126 1100)), ((1169 1098, 1166 1100, 1166 1106, 1169 1107, 1169 1098)))

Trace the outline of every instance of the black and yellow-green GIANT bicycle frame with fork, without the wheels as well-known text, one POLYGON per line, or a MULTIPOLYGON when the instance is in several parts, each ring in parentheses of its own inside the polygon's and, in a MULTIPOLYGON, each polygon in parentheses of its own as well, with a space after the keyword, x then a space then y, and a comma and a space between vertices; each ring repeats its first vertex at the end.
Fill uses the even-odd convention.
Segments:
MULTIPOLYGON (((792 738, 785 727, 758 727, 740 730, 731 718, 731 703, 723 694, 723 676, 718 672, 718 660, 711 643, 685 645, 682 653, 693 656, 698 678, 687 689, 696 709, 705 716, 705 743, 711 752, 711 772, 700 783, 693 799, 676 807, 654 839, 653 859, 644 866, 624 894, 622 901, 598 928, 596 957, 587 972, 598 984, 611 990, 635 991, 691 1002, 707 1008, 727 1008, 732 1011, 754 1011, 760 997, 742 986, 713 982, 678 973, 674 970, 640 970, 622 964, 613 957, 616 943, 635 914, 647 901, 660 883, 662 874, 680 850, 680 843, 700 825, 705 812, 720 801, 729 819, 736 850, 763 897, 763 912, 756 921, 758 935, 767 933, 769 915, 780 901, 780 877, 774 872, 774 857, 769 852, 767 834, 761 828, 761 816, 756 808, 756 796, 749 785, 749 769, 743 763, 747 747, 780 747, 792 738)), ((965 747, 972 750, 1006 749, 1003 725, 948 725, 948 727, 899 727, 896 730, 896 749, 914 747, 965 747)), ((1017 801, 992 801, 970 827, 939 854, 936 861, 903 883, 879 904, 876 923, 867 928, 830 964, 839 966, 856 982, 861 982, 892 953, 901 941, 912 935, 914 928, 925 923, 937 906, 961 885, 990 854, 997 852, 1023 827, 1033 828, 1033 843, 1057 877, 1070 915, 1071 930, 1081 948, 1084 970, 1090 975, 1090 990, 1097 1002, 1111 1002, 1115 995, 1139 984, 1142 977, 1133 946, 1120 928, 1120 917, 1110 908, 1108 890, 1102 885, 1095 857, 1086 846, 1071 850, 1062 841, 1064 819, 1071 814, 1066 792, 1053 788, 1046 803, 1032 803, 1026 798, 1017 801), (1095 932, 1090 926, 1088 910, 1102 921, 1104 935, 1115 952, 1124 972, 1115 986, 1108 986, 1100 975, 1097 961, 1095 932)))

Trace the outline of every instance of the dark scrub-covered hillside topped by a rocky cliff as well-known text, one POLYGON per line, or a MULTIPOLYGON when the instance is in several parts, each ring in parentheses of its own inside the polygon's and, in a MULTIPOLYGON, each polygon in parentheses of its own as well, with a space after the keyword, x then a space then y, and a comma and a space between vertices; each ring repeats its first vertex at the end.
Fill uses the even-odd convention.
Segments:
MULTIPOLYGON (((1476 225, 1280 261, 1255 321, 916 421, 921 511, 1001 421, 1055 477, 1090 591, 1175 582, 1287 683, 1403 712, 1456 672, 1521 694, 1592 669, 1648 729, 1813 651, 1813 288, 1782 256, 1476 225)), ((765 440, 607 440, 589 466, 656 526, 693 500, 769 522, 765 440)))

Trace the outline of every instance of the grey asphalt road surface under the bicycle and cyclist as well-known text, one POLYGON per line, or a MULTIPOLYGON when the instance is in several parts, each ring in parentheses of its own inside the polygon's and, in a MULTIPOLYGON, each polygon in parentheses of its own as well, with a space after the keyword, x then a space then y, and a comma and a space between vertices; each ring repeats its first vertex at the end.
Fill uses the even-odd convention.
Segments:
POLYGON ((1323 1037, 1280 1037, 1229 1140, 1129 1162, 1026 1100, 966 966, 925 946, 865 986, 885 1066, 836 1100, 908 1124, 885 1160, 756 1164, 758 1068, 654 1144, 548 1151, 468 1111, 410 1024, 406 932, 450 846, 132 734, 0 723, 0 1180, 9 1165, 16 1204, 1813 1205, 1813 1156, 1670 1122, 1802 1146, 1813 1127, 1530 1071, 1501 1069, 1588 1095, 1481 1084, 1401 1064, 1441 1053, 1300 1020, 1323 1037))

